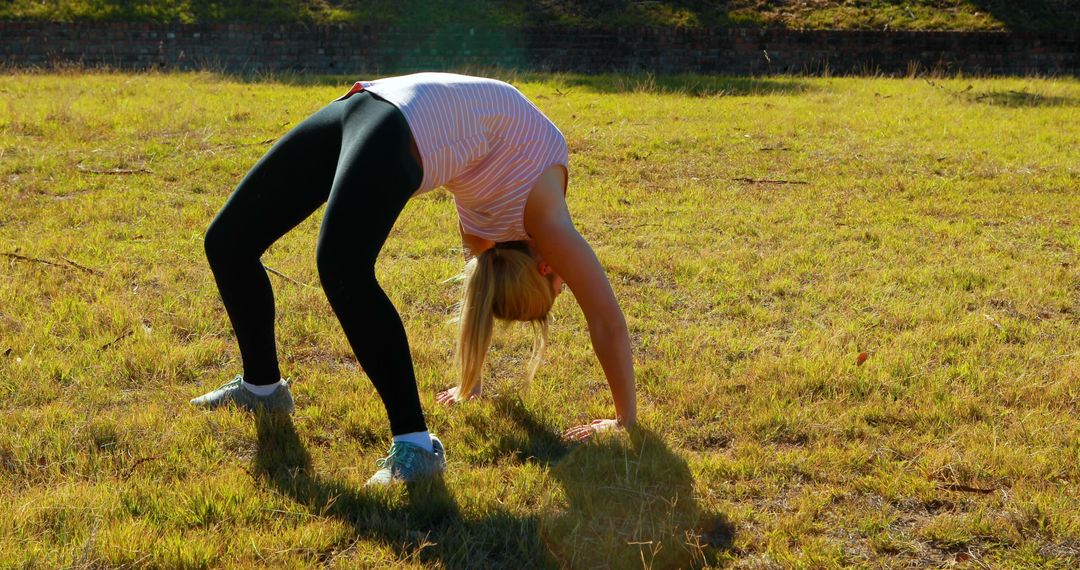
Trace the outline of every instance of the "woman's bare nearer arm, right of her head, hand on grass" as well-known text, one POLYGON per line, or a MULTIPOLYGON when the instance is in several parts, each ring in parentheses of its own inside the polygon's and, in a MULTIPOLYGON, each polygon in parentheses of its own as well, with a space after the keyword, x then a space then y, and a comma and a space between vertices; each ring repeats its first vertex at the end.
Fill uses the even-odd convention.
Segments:
MULTIPOLYGON (((536 249, 573 291, 589 324, 593 350, 611 388, 618 423, 630 426, 637 421, 637 396, 626 320, 596 254, 570 221, 563 176, 561 167, 552 167, 540 177, 525 206, 525 229, 536 249)), ((588 437, 610 423, 613 422, 593 422, 573 428, 567 435, 588 437)))

